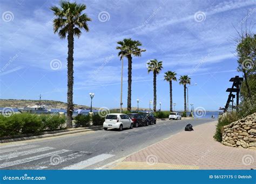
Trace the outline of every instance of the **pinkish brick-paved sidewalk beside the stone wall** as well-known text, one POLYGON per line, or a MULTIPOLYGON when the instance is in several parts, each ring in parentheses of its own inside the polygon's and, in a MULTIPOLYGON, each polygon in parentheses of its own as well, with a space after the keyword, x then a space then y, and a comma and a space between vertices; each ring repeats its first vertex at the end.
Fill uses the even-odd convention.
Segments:
POLYGON ((213 139, 216 123, 182 131, 106 169, 256 169, 255 150, 228 147, 213 139))

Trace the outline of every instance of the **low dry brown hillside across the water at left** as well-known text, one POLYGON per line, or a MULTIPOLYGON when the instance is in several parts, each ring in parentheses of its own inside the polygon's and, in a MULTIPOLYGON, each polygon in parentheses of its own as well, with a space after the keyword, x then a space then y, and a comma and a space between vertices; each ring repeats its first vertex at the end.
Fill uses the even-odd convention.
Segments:
MULTIPOLYGON (((14 99, 0 99, 0 107, 12 107, 12 108, 22 108, 28 105, 39 104, 39 100, 14 100, 14 99)), ((48 109, 65 109, 66 103, 54 100, 41 100, 41 104, 46 105, 48 109)), ((78 109, 79 107, 90 109, 86 105, 74 104, 74 108, 78 109)), ((96 108, 93 108, 96 109, 96 108)))

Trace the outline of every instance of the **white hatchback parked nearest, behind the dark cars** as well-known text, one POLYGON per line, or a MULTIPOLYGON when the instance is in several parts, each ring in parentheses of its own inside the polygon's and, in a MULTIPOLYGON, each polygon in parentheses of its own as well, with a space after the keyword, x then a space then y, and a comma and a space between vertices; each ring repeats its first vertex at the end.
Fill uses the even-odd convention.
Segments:
POLYGON ((107 129, 118 129, 122 131, 124 128, 133 128, 133 122, 126 114, 107 114, 105 122, 103 123, 104 130, 107 129))

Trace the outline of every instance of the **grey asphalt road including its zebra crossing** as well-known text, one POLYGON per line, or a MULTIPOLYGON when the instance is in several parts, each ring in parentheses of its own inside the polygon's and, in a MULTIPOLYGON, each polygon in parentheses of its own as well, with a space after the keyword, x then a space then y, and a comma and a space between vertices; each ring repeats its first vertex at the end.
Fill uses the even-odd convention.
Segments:
MULTIPOLYGON (((0 145, 0 169, 100 169, 180 131, 215 119, 158 121, 133 129, 98 130, 0 145)), ((194 129, 194 131, 197 131, 194 129)))

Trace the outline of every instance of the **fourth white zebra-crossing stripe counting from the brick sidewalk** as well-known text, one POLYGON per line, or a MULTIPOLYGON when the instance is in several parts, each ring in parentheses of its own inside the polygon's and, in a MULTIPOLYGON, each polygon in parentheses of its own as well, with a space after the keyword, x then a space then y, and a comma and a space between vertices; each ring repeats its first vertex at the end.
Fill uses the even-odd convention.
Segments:
POLYGON ((28 151, 22 151, 22 152, 12 152, 9 154, 4 154, 0 156, 0 160, 4 160, 4 159, 11 159, 11 158, 15 158, 15 157, 19 157, 19 156, 23 156, 23 155, 28 155, 28 154, 33 154, 33 153, 38 153, 38 152, 43 152, 43 151, 49 151, 49 150, 53 150, 53 147, 40 147, 34 150, 28 150, 28 151))

